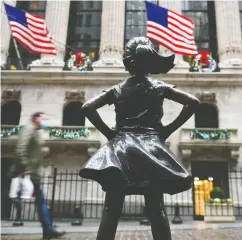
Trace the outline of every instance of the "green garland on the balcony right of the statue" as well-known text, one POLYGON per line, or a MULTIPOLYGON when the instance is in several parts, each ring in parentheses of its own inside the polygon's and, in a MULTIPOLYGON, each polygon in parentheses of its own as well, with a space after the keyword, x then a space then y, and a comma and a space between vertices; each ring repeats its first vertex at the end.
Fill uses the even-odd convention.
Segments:
POLYGON ((198 129, 193 129, 190 131, 191 139, 199 138, 203 140, 218 140, 218 139, 229 139, 230 132, 226 130, 215 130, 213 132, 208 132, 206 130, 199 131, 198 129))

